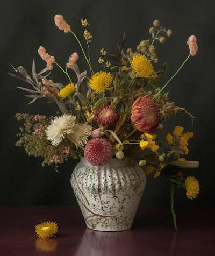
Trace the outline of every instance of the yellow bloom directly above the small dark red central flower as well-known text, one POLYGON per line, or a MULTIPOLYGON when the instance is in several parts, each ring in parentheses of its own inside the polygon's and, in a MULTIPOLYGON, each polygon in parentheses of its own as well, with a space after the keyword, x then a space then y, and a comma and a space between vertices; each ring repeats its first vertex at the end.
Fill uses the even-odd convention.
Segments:
POLYGON ((90 81, 89 86, 95 90, 95 93, 104 93, 105 90, 110 90, 111 83, 113 81, 113 76, 111 73, 100 71, 95 73, 90 81))

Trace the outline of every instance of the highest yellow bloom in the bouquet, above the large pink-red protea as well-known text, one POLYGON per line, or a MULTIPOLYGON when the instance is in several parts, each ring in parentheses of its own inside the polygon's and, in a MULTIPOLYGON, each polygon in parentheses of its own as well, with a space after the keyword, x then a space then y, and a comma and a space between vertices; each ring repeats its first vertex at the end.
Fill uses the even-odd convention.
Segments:
POLYGON ((144 55, 135 54, 130 61, 131 68, 136 77, 149 78, 154 73, 154 67, 144 55))

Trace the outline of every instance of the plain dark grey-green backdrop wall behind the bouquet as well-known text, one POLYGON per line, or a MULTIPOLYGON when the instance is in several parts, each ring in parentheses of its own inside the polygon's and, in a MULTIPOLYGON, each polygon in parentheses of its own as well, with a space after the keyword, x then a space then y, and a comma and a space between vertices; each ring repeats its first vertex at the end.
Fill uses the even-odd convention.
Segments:
MULTIPOLYGON (((189 170, 199 180, 200 194, 190 201, 185 190, 176 190, 175 205, 211 205, 214 201, 214 8, 213 1, 16 1, 1 0, 1 204, 76 204, 70 187, 70 175, 78 162, 71 159, 61 165, 59 173, 54 167, 41 167, 41 159, 28 157, 23 148, 16 147, 19 123, 17 112, 54 113, 56 106, 41 99, 26 106, 29 99, 16 86, 25 83, 6 75, 12 72, 9 65, 24 66, 31 73, 35 58, 37 70, 45 62, 37 54, 39 46, 54 55, 63 64, 73 52, 78 52, 81 71, 87 68, 77 42, 71 34, 65 34, 54 24, 55 14, 62 14, 78 37, 82 37, 80 20, 87 18, 88 30, 93 35, 91 59, 96 63, 99 50, 117 53, 117 42, 126 32, 125 49, 135 49, 142 39, 149 37, 148 29, 154 19, 173 30, 173 36, 159 45, 161 66, 164 62, 170 71, 163 76, 161 86, 188 55, 186 45, 189 35, 195 34, 198 53, 189 59, 180 74, 171 82, 170 99, 184 106, 195 117, 191 127, 189 117, 179 115, 164 123, 165 131, 173 131, 175 125, 193 131, 189 140, 188 160, 199 160, 200 167, 189 170)), ((54 81, 63 82, 57 69, 52 74, 54 81)), ((169 183, 148 176, 142 204, 166 205, 170 203, 169 183)))

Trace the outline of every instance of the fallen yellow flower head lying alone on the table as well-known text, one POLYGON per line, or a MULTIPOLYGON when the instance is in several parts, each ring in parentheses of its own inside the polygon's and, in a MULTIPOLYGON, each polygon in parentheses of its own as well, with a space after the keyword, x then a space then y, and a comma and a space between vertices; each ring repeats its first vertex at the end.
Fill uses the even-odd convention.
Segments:
POLYGON ((51 238, 58 232, 58 225, 55 222, 42 222, 35 226, 35 232, 39 238, 51 238))

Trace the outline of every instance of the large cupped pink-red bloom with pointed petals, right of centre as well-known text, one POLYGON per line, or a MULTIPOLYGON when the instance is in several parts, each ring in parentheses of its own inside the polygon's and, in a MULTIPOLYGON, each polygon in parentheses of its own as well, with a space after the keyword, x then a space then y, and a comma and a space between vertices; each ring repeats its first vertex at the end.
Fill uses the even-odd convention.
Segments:
POLYGON ((132 105, 131 122, 140 132, 153 133, 161 129, 160 110, 150 100, 150 95, 141 96, 132 105))

